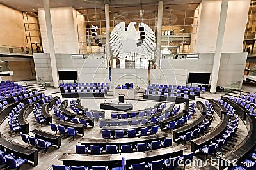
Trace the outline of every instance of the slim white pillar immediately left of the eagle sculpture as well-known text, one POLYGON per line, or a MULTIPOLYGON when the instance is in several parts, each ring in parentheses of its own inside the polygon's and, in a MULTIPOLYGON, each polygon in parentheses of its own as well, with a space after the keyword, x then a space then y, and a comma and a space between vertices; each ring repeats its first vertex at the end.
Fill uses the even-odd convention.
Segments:
POLYGON ((110 60, 110 17, 109 17, 109 2, 105 1, 105 20, 106 20, 106 61, 107 61, 107 68, 109 68, 109 60, 110 60))

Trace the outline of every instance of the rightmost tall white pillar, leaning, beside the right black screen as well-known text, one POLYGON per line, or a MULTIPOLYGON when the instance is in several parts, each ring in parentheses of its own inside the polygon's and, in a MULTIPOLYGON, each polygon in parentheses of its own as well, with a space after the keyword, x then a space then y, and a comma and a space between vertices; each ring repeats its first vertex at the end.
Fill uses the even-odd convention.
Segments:
POLYGON ((211 80, 211 89, 210 89, 211 93, 216 92, 216 87, 218 82, 227 11, 228 11, 228 0, 222 0, 221 11, 220 11, 220 22, 219 22, 219 28, 218 28, 218 34, 217 34, 213 66, 212 66, 212 80, 211 80))

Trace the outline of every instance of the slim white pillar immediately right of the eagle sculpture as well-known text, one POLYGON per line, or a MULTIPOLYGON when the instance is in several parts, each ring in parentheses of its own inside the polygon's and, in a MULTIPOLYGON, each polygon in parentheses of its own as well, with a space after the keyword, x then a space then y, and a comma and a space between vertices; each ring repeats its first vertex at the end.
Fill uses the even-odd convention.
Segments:
POLYGON ((162 38, 162 20, 163 20, 163 1, 158 1, 157 16, 157 39, 156 39, 156 68, 160 69, 161 58, 161 38, 162 38))

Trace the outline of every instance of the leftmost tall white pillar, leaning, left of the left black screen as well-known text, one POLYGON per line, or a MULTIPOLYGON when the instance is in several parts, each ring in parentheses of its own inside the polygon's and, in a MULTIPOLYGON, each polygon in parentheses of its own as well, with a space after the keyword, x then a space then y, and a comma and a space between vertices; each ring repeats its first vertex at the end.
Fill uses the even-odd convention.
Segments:
POLYGON ((48 37, 48 42, 49 42, 49 52, 50 52, 50 58, 51 58, 53 87, 57 88, 57 87, 59 87, 59 82, 58 82, 53 34, 52 34, 52 22, 51 22, 49 0, 44 0, 44 13, 45 13, 47 37, 48 37))

